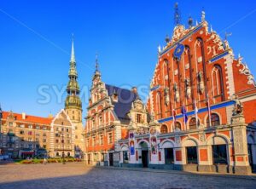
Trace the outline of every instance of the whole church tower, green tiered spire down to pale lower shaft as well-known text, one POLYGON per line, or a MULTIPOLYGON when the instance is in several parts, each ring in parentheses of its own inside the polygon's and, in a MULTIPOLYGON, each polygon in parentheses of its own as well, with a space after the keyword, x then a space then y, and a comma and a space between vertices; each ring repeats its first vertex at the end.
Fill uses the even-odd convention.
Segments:
POLYGON ((83 123, 82 123, 82 102, 80 100, 80 88, 78 79, 78 72, 76 69, 76 60, 74 55, 73 40, 71 48, 71 58, 69 62, 70 68, 68 72, 69 81, 67 83, 67 99, 65 101, 65 111, 74 125, 74 144, 75 155, 82 155, 83 149, 83 123))

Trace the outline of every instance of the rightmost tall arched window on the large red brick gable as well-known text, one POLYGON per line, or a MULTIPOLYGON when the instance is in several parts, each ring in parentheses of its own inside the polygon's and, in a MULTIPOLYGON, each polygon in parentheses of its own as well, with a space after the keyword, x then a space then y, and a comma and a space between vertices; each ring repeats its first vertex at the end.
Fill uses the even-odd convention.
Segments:
POLYGON ((224 100, 224 83, 222 77, 221 66, 215 65, 212 68, 212 93, 213 98, 219 98, 224 100))

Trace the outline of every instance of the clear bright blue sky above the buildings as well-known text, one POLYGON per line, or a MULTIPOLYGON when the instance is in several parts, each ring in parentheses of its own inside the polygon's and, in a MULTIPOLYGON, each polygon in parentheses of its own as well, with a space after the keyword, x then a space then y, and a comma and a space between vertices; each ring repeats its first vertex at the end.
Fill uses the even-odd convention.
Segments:
MULTIPOLYGON (((131 88, 147 86, 157 61, 157 46, 172 36, 171 0, 32 1, 0 3, 0 103, 3 110, 48 116, 64 107, 71 36, 74 33, 79 84, 88 89, 99 54, 104 82, 131 88), (49 86, 49 102, 40 102, 40 87, 49 86)), ((256 75, 256 3, 177 1, 182 22, 201 20, 201 9, 213 30, 232 32, 230 46, 241 53, 256 75)), ((145 94, 145 92, 144 92, 145 94)), ((83 98, 84 116, 88 96, 83 98)))

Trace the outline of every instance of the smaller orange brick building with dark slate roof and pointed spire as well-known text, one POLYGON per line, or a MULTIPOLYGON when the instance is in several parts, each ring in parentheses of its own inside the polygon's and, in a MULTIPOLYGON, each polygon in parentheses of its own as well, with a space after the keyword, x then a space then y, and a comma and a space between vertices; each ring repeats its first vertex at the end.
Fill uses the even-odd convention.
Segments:
MULTIPOLYGON (((102 82, 96 62, 84 133, 89 164, 119 165, 118 141, 128 137, 134 124, 148 127, 147 111, 137 89, 121 89, 102 82)), ((125 153, 128 158, 128 154, 125 153)))

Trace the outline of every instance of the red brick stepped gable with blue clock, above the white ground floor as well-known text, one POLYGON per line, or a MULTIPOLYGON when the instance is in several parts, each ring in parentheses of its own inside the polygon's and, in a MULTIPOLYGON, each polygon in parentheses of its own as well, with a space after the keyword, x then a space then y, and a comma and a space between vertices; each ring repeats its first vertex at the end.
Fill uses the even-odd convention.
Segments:
MULTIPOLYGON (((173 112, 178 117, 183 106, 187 112, 195 112, 195 105, 205 108, 208 99, 214 106, 233 100, 234 94, 247 101, 247 95, 256 93, 256 83, 248 67, 241 62, 240 55, 234 57, 227 35, 222 40, 212 26, 209 29, 204 11, 200 24, 193 26, 191 18, 189 28, 177 24, 172 38, 166 37, 166 45, 159 47, 158 53, 148 99, 148 111, 158 120, 167 117, 172 120, 173 112)), ((247 123, 252 122, 252 113, 245 114, 247 123)), ((205 117, 201 119, 204 123, 205 117)), ((230 120, 224 119, 222 123, 230 120)))

